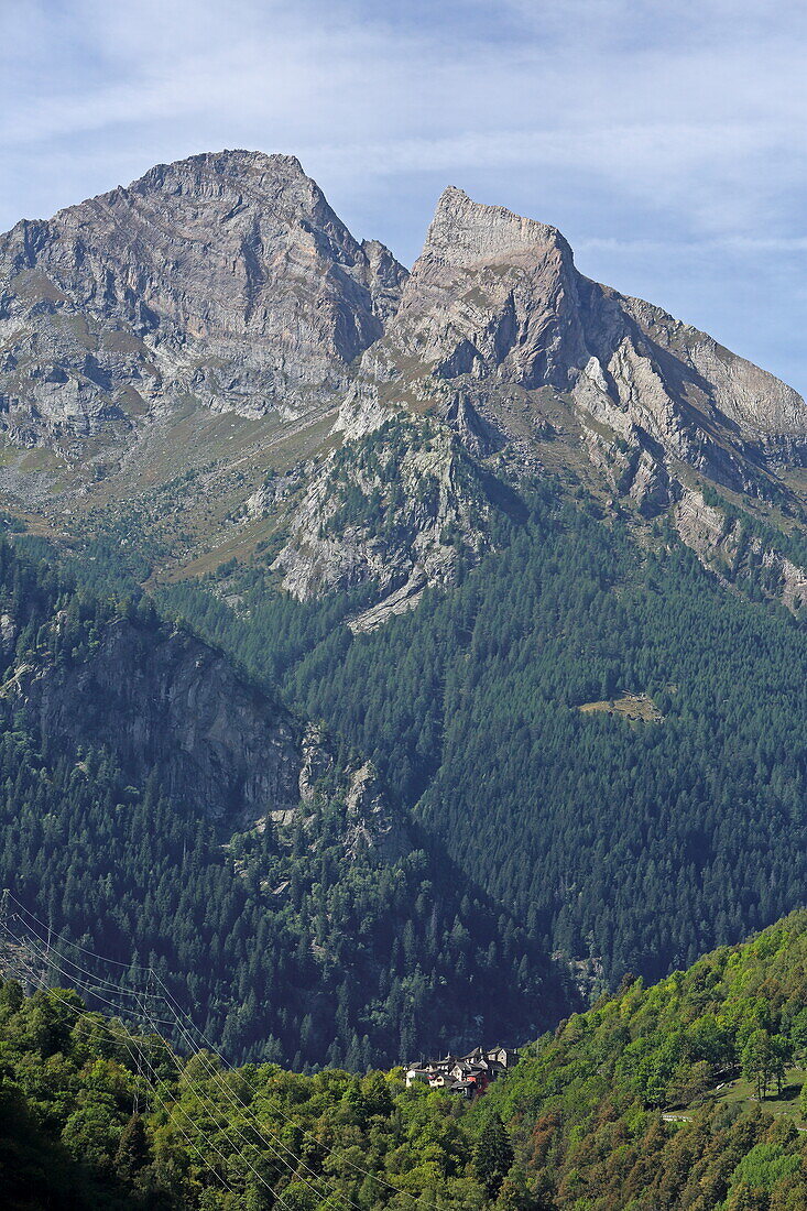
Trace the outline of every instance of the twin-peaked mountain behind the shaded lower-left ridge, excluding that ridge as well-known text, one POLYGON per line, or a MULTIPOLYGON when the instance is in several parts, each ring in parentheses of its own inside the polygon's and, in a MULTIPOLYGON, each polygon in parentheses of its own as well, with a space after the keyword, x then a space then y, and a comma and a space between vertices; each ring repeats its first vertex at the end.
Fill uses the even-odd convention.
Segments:
MULTIPOLYGON (((407 274, 382 246, 354 240, 290 157, 202 155, 142 182, 128 191, 134 208, 122 190, 114 205, 69 212, 65 231, 90 233, 88 269, 71 237, 47 253, 92 305, 80 292, 46 297, 41 281, 22 303, 16 279, 2 295, 22 308, 5 335, 42 355, 30 392, 45 390, 51 409, 35 415, 23 392, 6 413, 13 429, 34 409, 35 432, 0 444, 6 524, 29 527, 21 547, 50 539, 48 557, 118 599, 154 592, 262 687, 282 685, 305 719, 325 719, 359 768, 372 758, 440 838, 452 883, 467 869, 511 913, 497 946, 517 919, 544 958, 561 953, 599 988, 640 963, 658 975, 792 907, 803 401, 660 309, 584 277, 555 228, 453 186, 407 274), (109 243, 115 206, 125 230, 109 243), (131 298, 111 289, 110 315, 98 303, 107 270, 118 286, 142 274, 131 298), (142 306, 153 314, 138 318, 142 306), (130 309, 125 322, 116 308, 130 309), (109 332, 139 344, 107 349, 102 365, 96 344, 109 332), (137 371, 144 407, 107 419, 91 407, 92 431, 51 432, 87 357, 110 375, 86 386, 92 398, 137 371), (275 374, 288 388, 276 406, 264 391, 275 374), (754 665, 762 650, 777 685, 754 665), (726 682, 734 661, 740 685, 726 682), (646 734, 641 719, 580 710, 623 695, 647 701, 646 734), (740 739, 750 762, 736 756, 740 739), (619 844, 607 836, 614 821, 619 844), (670 890, 675 862, 686 905, 670 890), (765 886, 743 884, 749 862, 765 868, 765 886), (617 888, 630 902, 609 899, 617 888), (657 917, 675 920, 671 937, 657 917)), ((28 373, 8 356, 7 374, 28 373)), ((147 659, 127 649, 127 666, 147 659)), ((47 678, 48 693, 64 691, 58 742, 86 742, 69 685, 47 678)), ((87 693, 99 684, 87 668, 81 678, 87 693)), ((25 682, 23 698, 36 695, 25 682)), ((115 718, 126 714, 125 695, 116 701, 115 718)), ((257 843, 244 844, 252 862, 257 843)))

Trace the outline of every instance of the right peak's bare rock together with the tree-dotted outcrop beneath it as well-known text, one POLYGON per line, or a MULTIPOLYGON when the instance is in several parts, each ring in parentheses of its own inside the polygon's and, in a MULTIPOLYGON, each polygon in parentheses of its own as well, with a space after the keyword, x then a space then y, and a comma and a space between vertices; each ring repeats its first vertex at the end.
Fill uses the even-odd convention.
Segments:
POLYGON ((450 582, 458 550, 474 559, 486 549, 491 512, 490 498, 474 507, 479 480, 457 474, 450 435, 471 465, 516 444, 528 460, 542 427, 525 440, 521 426, 516 441, 514 390, 522 413, 540 408, 542 392, 568 401, 593 463, 648 517, 680 498, 683 465, 757 494, 769 463, 807 452, 807 407, 785 384, 660 309, 585 279, 554 228, 447 189, 334 426, 343 472, 376 501, 379 524, 340 511, 332 459, 311 467, 275 564, 286 587, 308 598, 373 581, 380 599, 353 624, 364 630, 410 609, 427 585, 450 582), (434 463, 433 440, 411 425, 393 470, 383 454, 362 461, 361 446, 423 408, 445 430, 430 511, 417 489, 434 463))

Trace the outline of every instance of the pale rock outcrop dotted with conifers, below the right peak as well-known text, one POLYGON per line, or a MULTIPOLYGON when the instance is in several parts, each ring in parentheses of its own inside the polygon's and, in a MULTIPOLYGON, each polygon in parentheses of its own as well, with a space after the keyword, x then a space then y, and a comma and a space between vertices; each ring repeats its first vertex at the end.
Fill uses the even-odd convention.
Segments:
POLYGON ((302 601, 373 585, 378 601, 351 622, 371 630, 411 609, 428 585, 451 584, 460 558, 490 547, 492 516, 517 507, 450 426, 390 421, 313 472, 274 568, 302 601))

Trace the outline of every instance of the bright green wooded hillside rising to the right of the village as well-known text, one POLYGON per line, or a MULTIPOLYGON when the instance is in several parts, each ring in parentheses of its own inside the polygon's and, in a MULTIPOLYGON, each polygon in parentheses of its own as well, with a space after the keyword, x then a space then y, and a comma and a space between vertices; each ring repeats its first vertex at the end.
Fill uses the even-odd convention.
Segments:
POLYGON ((799 912, 654 987, 626 978, 540 1040, 480 1114, 510 1124, 551 1207, 801 1207, 806 1026, 799 912))

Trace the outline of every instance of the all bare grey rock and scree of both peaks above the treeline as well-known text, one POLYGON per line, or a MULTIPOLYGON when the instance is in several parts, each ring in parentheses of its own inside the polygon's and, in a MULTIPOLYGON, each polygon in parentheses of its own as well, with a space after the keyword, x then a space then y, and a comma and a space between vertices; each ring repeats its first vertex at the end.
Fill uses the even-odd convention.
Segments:
POLYGON ((698 480, 807 509, 805 401, 584 277, 555 228, 450 188, 407 274, 250 151, 0 237, 2 430, 0 488, 48 524, 148 499, 190 562, 263 523, 296 596, 376 586, 359 629, 479 558, 545 470, 647 518, 698 480), (32 475, 28 446, 63 461, 32 475))

